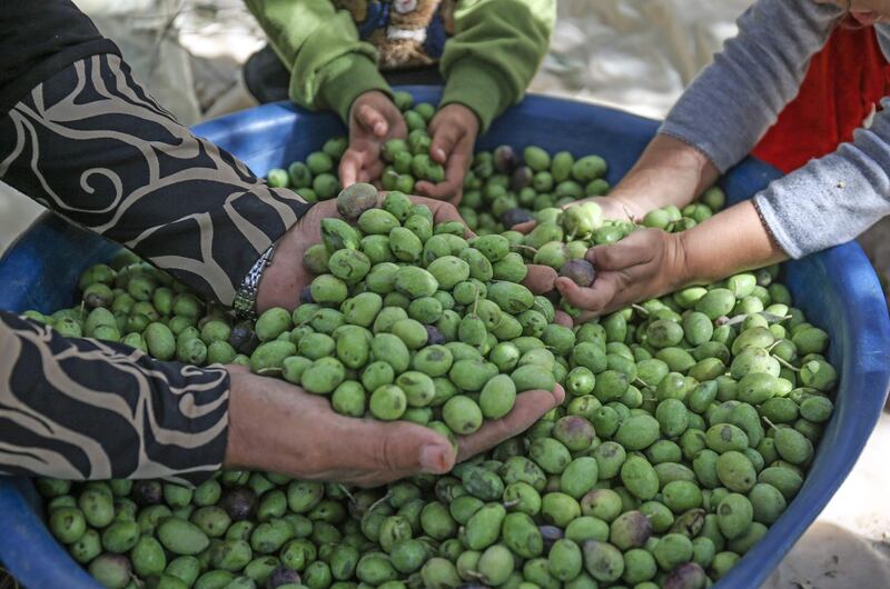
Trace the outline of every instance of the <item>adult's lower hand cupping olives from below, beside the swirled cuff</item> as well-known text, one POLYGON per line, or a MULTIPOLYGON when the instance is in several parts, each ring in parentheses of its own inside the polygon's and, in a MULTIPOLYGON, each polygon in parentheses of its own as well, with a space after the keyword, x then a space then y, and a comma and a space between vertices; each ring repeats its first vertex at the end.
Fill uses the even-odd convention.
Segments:
POLYGON ((374 487, 421 472, 444 473, 456 462, 531 427, 565 396, 526 391, 503 419, 459 437, 458 452, 429 428, 335 413, 324 397, 280 380, 229 367, 229 437, 226 468, 281 472, 303 480, 374 487))

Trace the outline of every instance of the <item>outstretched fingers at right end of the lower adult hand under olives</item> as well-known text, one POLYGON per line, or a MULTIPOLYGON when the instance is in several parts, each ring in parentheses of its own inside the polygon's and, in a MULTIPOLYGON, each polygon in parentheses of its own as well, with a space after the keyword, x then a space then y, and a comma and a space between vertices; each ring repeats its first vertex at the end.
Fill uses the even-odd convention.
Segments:
POLYGON ((560 385, 553 392, 533 390, 516 397, 513 410, 503 419, 486 421, 475 433, 458 439, 457 461, 461 462, 479 452, 493 448, 502 441, 510 439, 530 427, 541 417, 563 402, 565 391, 560 385))

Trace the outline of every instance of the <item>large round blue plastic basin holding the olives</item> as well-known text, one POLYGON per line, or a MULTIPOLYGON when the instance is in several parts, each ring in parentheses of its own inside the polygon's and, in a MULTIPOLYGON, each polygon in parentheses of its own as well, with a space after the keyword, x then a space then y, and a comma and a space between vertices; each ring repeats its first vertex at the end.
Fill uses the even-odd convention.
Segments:
MULTIPOLYGON (((434 88, 408 88, 436 102, 434 88)), ((479 147, 535 143, 575 156, 600 153, 609 181, 620 179, 652 138, 657 123, 620 111, 544 97, 528 97, 501 117, 479 147)), ((269 104, 198 126, 195 131, 234 152, 257 173, 303 159, 345 129, 330 114, 269 104)), ((751 197, 779 172, 748 159, 724 181, 732 201, 751 197)), ((0 261, 0 308, 53 311, 73 303, 79 272, 116 247, 46 216, 0 261)), ((850 472, 878 420, 890 381, 890 321, 871 266, 848 243, 784 267, 783 281, 808 318, 831 335, 831 361, 841 370, 837 410, 807 482, 788 511, 716 587, 756 587, 812 523, 850 472)), ((44 527, 28 479, 0 480, 0 561, 27 587, 100 589, 44 527)))

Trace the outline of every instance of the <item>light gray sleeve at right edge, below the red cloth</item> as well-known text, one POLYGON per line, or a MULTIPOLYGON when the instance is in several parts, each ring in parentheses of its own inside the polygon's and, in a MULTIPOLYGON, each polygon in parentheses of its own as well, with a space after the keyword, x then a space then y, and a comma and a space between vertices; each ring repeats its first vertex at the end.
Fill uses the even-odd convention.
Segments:
POLYGON ((890 214, 890 99, 851 143, 772 182, 754 197, 792 258, 844 243, 890 214))

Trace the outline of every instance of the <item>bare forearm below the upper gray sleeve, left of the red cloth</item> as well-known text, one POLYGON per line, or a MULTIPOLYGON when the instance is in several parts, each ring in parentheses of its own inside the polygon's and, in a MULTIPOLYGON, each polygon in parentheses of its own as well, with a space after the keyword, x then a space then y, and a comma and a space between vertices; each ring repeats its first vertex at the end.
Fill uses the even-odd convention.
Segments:
POLYGON ((689 204, 718 176, 704 153, 679 139, 657 134, 610 198, 621 200, 635 218, 642 218, 653 209, 689 204))

